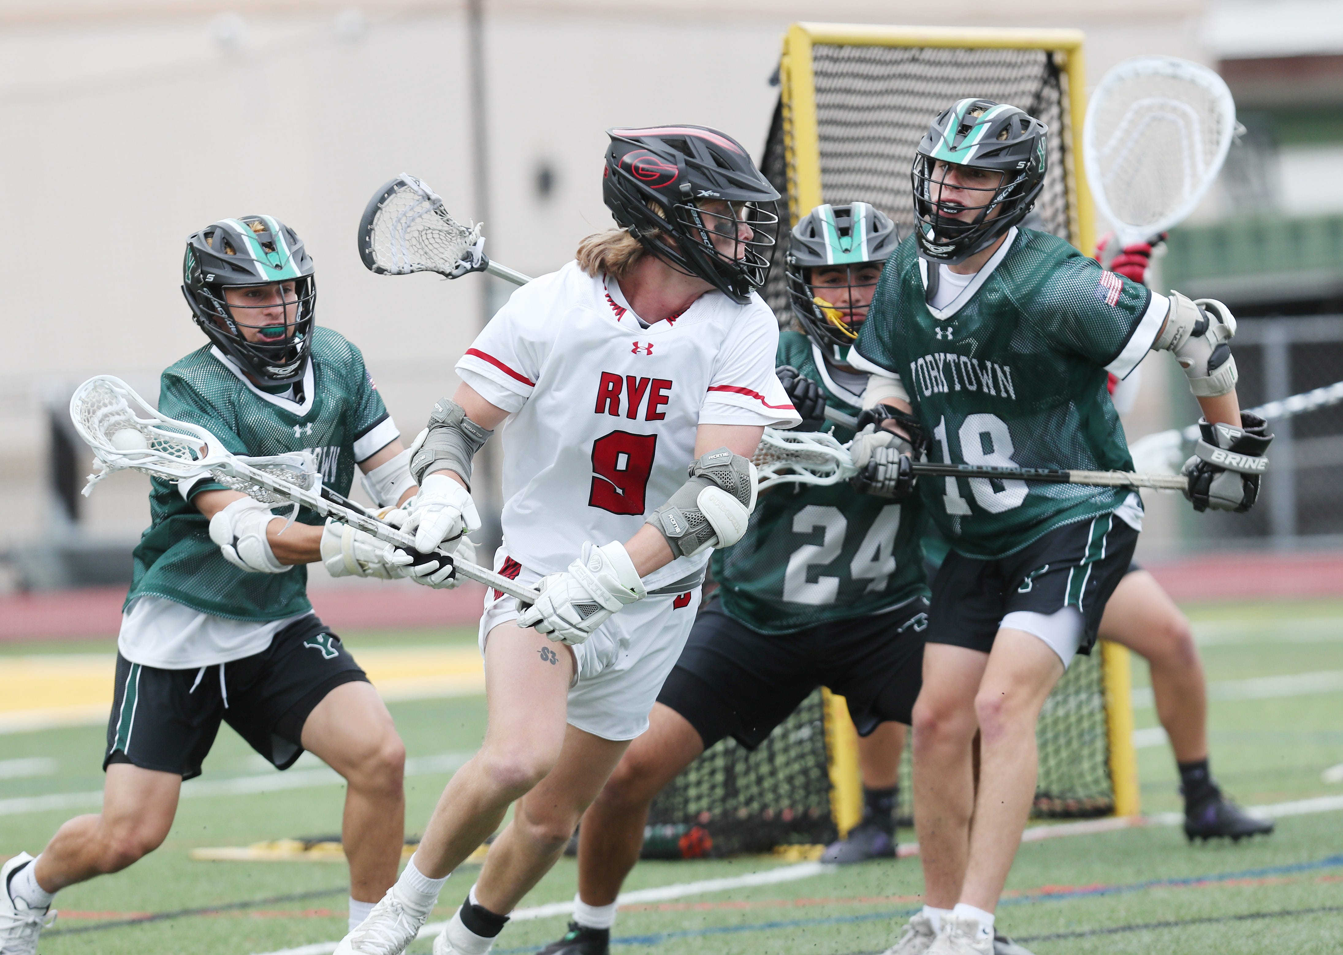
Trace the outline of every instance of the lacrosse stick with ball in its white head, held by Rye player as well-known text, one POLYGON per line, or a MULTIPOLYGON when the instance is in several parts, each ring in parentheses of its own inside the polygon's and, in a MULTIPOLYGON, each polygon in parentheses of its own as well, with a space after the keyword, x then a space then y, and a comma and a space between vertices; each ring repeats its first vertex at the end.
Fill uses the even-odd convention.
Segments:
MULTIPOLYGON (((110 374, 95 376, 75 389, 70 398, 70 418, 97 460, 97 472, 89 476, 83 490, 86 496, 103 477, 128 468, 173 483, 208 475, 263 504, 293 504, 294 514, 299 507, 308 507, 411 554, 418 553, 414 535, 383 523, 357 506, 349 507, 322 496, 321 475, 310 453, 239 457, 205 428, 161 416, 126 382, 110 374)), ((540 596, 447 551, 438 550, 435 555, 455 565, 459 575, 524 604, 532 604, 540 596)))

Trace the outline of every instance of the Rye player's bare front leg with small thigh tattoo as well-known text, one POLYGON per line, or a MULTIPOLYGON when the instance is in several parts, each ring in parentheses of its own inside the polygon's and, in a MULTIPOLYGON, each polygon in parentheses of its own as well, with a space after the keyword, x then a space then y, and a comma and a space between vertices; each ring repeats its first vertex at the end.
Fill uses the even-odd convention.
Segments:
POLYGON ((449 781, 416 868, 443 879, 504 821, 514 799, 549 774, 564 746, 573 653, 533 629, 500 624, 485 645, 489 723, 479 751, 449 781))

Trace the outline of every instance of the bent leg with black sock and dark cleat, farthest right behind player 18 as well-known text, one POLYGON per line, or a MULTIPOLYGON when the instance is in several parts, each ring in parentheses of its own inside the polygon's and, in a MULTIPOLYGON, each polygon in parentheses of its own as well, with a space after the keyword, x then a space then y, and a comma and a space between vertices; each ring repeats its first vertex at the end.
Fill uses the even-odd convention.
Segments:
POLYGON ((1100 636, 1147 660, 1156 718, 1170 738, 1185 794, 1189 838, 1273 832, 1272 820, 1245 813, 1222 795, 1207 758, 1207 681, 1189 620, 1146 570, 1124 575, 1105 605, 1100 636))

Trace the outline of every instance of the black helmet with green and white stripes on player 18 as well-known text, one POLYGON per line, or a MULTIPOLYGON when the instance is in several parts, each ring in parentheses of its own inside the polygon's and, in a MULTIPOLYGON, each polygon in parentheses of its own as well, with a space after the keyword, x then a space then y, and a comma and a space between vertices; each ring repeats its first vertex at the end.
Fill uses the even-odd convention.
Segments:
POLYGON ((1049 127, 1034 117, 991 99, 962 99, 939 113, 919 144, 911 173, 919 255, 955 266, 1019 223, 1045 185, 1048 133, 1049 127), (935 173, 939 160, 948 164, 940 176, 935 173), (940 192, 945 169, 952 165, 999 172, 1002 180, 992 189, 979 190, 984 193, 982 203, 935 203, 933 192, 940 192), (966 209, 979 215, 968 223, 947 215, 966 209), (994 209, 1001 212, 988 219, 994 209))

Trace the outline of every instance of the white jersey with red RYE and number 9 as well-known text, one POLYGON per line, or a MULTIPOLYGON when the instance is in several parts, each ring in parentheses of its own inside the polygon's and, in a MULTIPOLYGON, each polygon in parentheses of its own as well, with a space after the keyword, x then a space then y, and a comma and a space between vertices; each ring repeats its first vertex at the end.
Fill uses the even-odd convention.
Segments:
MULTIPOLYGON (((645 329, 614 280, 571 262, 513 292, 457 362, 462 381, 512 412, 504 441, 504 539, 541 574, 584 541, 629 541, 686 480, 701 424, 791 428, 774 374, 779 323, 755 294, 713 291, 645 329)), ((689 578, 677 558, 649 590, 689 578)))

